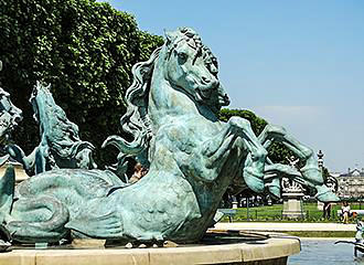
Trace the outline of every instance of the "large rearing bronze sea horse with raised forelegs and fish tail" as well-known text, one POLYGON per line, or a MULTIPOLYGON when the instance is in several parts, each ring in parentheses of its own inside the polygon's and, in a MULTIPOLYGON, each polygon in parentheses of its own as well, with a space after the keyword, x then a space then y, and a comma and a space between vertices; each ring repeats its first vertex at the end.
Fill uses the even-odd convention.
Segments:
MULTIPOLYGON (((319 199, 336 200, 323 186, 310 151, 280 127, 268 127, 256 137, 243 118, 217 119, 221 106, 228 104, 217 73, 216 59, 195 31, 167 32, 164 45, 132 68, 121 123, 135 139, 111 136, 105 142, 117 146, 120 158, 144 159, 149 172, 132 186, 107 170, 40 173, 0 201, 2 229, 18 242, 69 236, 196 242, 233 178, 243 179, 256 192, 263 192, 270 180, 265 173, 275 179, 282 171, 296 178, 297 172, 283 166, 266 166, 265 146, 271 139, 296 148, 304 158, 299 177, 320 190, 319 199)), ((0 180, 0 194, 13 183, 8 172, 0 180)))

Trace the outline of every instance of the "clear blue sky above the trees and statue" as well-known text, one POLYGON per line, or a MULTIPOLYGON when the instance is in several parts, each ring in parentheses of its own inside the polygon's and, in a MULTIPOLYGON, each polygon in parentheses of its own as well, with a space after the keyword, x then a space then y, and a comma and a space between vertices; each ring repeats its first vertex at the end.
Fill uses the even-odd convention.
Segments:
POLYGON ((332 172, 364 168, 364 1, 109 0, 140 30, 191 26, 229 108, 283 126, 332 172))

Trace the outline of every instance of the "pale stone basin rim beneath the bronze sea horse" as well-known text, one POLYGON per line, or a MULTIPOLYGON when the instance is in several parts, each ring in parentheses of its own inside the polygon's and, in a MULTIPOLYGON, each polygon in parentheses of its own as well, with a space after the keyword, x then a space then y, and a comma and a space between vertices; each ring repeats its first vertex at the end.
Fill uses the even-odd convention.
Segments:
POLYGON ((13 250, 0 253, 0 264, 7 265, 68 265, 68 264, 286 264, 287 257, 300 252, 295 239, 269 239, 255 243, 203 245, 160 248, 105 250, 13 250), (279 263, 278 263, 279 261, 279 263), (271 263, 270 263, 271 264, 271 263))

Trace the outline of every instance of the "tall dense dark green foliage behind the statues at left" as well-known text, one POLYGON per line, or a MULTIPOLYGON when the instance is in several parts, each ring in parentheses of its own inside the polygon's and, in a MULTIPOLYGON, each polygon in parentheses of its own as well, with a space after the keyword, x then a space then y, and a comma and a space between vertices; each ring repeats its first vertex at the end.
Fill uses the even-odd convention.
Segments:
POLYGON ((98 148, 117 134, 131 67, 162 45, 162 38, 139 31, 132 15, 95 0, 0 0, 0 83, 24 113, 14 141, 26 152, 39 142, 28 103, 38 80, 52 84, 55 102, 79 126, 82 139, 98 148))

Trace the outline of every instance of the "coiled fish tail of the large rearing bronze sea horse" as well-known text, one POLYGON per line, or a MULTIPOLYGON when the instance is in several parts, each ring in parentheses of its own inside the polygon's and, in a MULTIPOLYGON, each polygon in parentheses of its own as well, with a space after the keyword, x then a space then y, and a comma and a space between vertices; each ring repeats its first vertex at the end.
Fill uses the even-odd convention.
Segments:
POLYGON ((14 202, 11 215, 4 227, 18 242, 58 242, 69 233, 64 227, 69 218, 67 208, 50 195, 21 198, 14 202))

